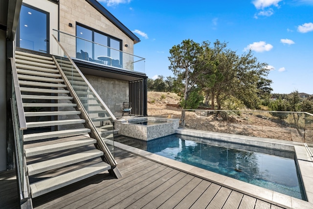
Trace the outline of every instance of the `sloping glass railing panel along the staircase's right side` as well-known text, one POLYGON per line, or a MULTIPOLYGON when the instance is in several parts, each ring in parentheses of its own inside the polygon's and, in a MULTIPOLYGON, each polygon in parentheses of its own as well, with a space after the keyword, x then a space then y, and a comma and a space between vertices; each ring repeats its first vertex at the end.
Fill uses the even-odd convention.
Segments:
MULTIPOLYGON (((54 31, 57 32, 57 31, 54 31)), ((61 34, 62 37, 64 34, 61 34)), ((55 34, 57 37, 58 34, 55 34)), ((77 98, 91 119, 93 125, 97 129, 112 156, 114 156, 114 138, 113 138, 113 120, 114 118, 110 115, 110 110, 104 106, 99 98, 99 95, 92 89, 89 83, 86 82, 86 78, 82 76, 81 72, 78 71, 70 60, 65 56, 65 52, 61 47, 58 47, 56 56, 57 62, 64 72, 65 76, 72 89, 74 90, 77 98)), ((111 113, 112 114, 112 113, 111 113)))

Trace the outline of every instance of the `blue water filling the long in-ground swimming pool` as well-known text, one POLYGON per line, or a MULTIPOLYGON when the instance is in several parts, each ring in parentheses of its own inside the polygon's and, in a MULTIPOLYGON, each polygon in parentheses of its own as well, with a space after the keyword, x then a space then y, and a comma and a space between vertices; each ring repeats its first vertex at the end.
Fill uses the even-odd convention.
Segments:
POLYGON ((294 153, 214 142, 211 139, 201 139, 200 142, 200 139, 185 138, 187 139, 181 135, 171 135, 148 142, 139 140, 137 146, 182 163, 304 199, 294 153), (270 155, 272 153, 278 156, 270 155))

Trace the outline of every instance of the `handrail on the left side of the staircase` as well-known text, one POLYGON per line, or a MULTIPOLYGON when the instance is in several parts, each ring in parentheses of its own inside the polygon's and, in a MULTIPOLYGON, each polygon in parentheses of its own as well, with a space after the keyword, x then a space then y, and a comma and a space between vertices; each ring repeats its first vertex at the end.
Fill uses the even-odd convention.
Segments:
POLYGON ((20 130, 26 130, 26 118, 24 113, 24 107, 22 102, 22 93, 19 84, 18 72, 16 70, 15 60, 14 58, 10 58, 11 68, 12 68, 12 78, 13 78, 13 86, 16 95, 16 105, 18 107, 18 116, 20 122, 20 130))

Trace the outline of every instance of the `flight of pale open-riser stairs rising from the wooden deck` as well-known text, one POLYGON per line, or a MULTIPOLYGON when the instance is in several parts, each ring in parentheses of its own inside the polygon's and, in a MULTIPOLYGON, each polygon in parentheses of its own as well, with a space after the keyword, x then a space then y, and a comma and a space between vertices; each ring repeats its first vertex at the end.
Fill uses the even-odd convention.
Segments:
MULTIPOLYGON (((26 117, 23 148, 32 198, 111 169, 103 161, 104 153, 96 149, 96 139, 89 137, 90 129, 53 59, 16 51, 15 60, 26 117)), ((84 94, 88 87, 79 88, 84 94)))

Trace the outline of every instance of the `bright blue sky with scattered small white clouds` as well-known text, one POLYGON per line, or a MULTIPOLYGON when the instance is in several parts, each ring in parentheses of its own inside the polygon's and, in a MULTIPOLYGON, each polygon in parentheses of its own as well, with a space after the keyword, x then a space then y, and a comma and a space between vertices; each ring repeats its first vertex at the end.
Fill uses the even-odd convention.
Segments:
POLYGON ((169 50, 217 39, 268 63, 273 93, 313 94, 313 0, 98 0, 141 42, 145 73, 173 76, 169 50))

